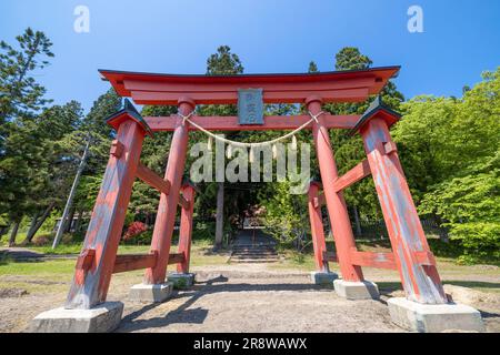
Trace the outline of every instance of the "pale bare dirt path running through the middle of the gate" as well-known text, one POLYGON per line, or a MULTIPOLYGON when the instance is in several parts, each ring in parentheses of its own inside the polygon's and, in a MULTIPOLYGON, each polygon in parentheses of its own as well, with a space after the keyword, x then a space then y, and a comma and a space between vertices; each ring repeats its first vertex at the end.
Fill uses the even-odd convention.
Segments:
POLYGON ((118 332, 401 332, 381 302, 349 302, 307 277, 210 277, 157 305, 127 305, 118 332))

